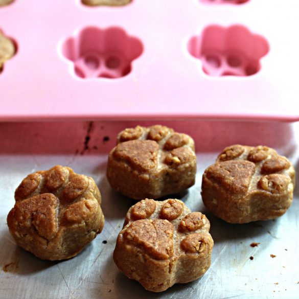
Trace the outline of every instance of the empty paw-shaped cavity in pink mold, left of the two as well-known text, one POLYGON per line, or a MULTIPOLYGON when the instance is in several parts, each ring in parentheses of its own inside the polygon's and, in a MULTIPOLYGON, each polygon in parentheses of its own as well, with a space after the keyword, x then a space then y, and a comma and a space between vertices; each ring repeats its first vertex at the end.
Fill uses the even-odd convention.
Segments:
POLYGON ((87 27, 62 44, 63 56, 74 63, 75 74, 84 79, 126 76, 142 52, 140 39, 119 27, 87 27))

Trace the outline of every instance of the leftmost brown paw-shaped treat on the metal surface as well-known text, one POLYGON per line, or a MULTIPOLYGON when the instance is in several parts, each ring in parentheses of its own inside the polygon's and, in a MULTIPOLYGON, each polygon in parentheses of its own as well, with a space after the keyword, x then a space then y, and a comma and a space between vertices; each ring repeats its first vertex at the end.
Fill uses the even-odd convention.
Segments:
POLYGON ((104 215, 93 178, 57 165, 29 174, 7 216, 16 243, 44 260, 75 257, 101 233, 104 215))

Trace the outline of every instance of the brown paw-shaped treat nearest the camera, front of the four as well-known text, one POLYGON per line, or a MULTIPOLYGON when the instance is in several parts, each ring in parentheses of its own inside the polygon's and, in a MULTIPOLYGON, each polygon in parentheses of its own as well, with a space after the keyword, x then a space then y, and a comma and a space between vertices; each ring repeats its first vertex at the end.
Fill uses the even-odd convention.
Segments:
POLYGON ((180 200, 145 199, 129 209, 113 259, 144 288, 161 292, 201 277, 211 265, 210 222, 180 200))

